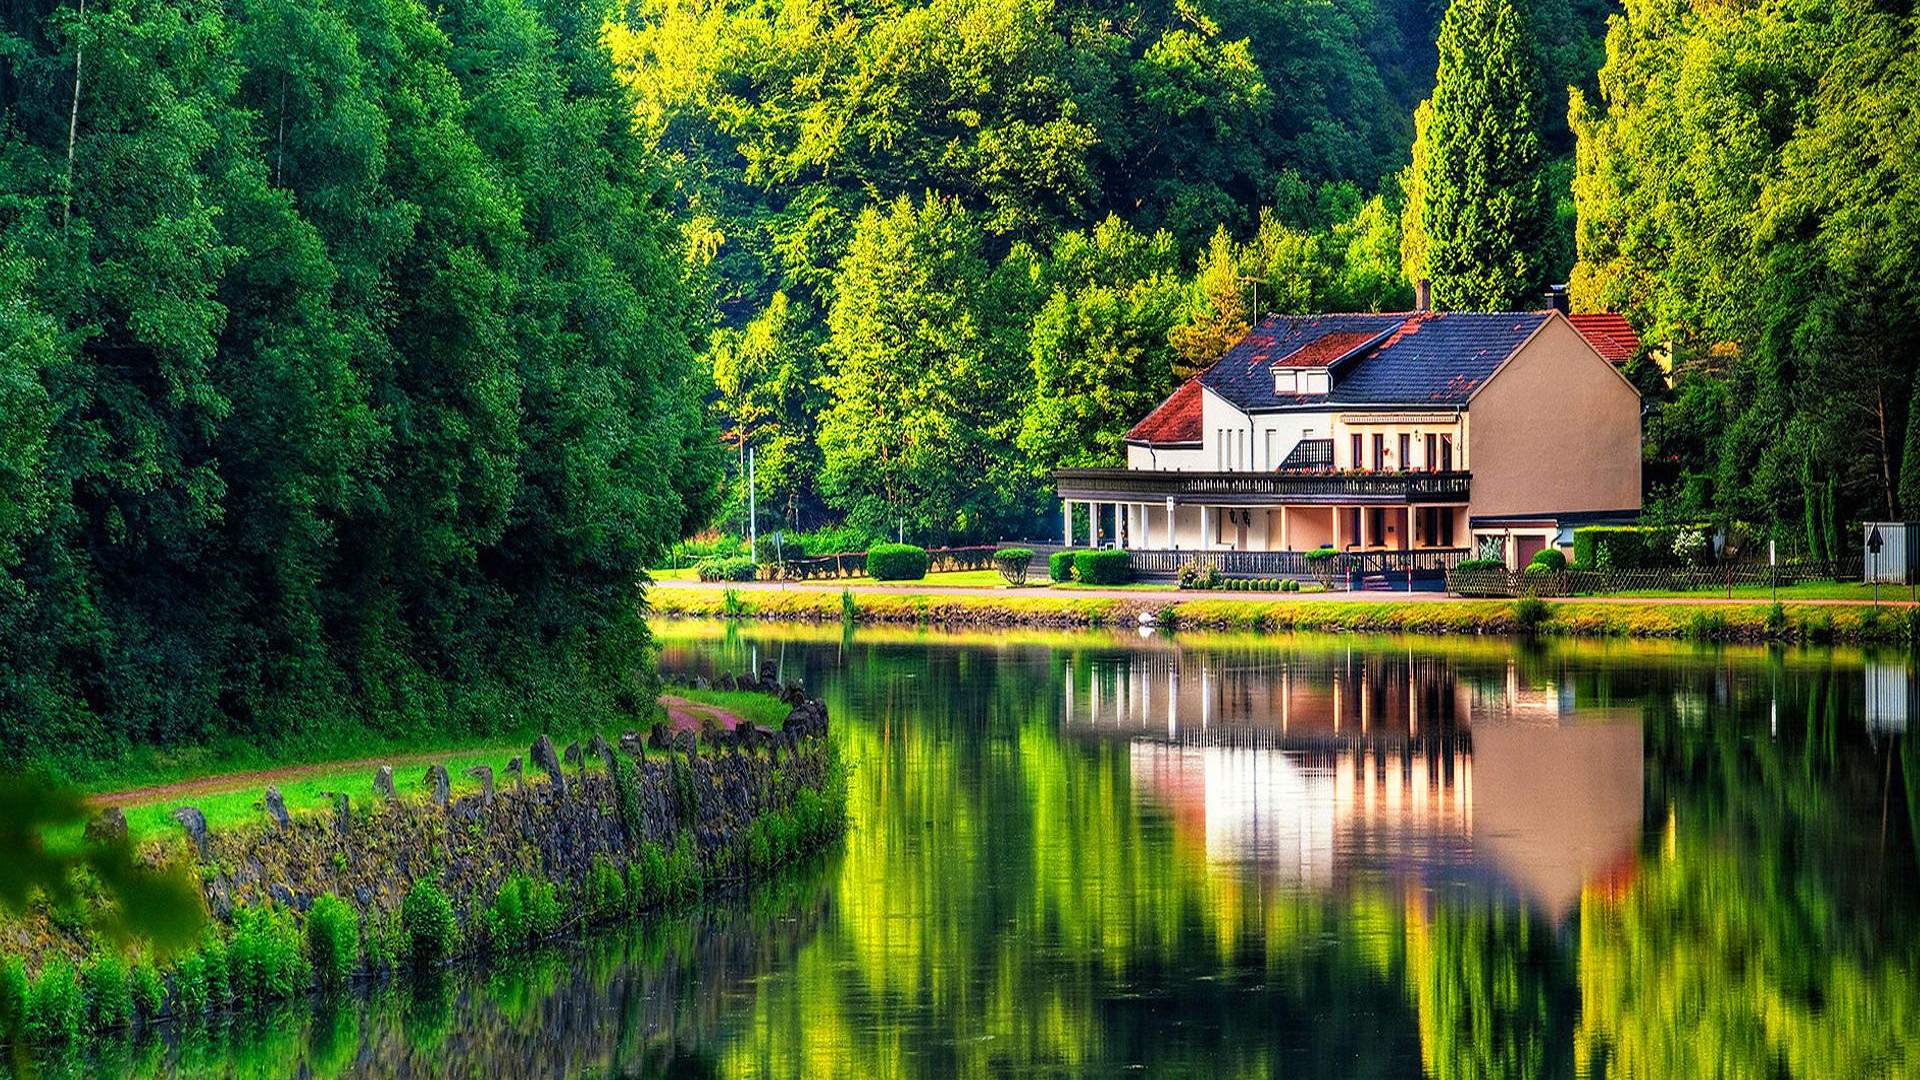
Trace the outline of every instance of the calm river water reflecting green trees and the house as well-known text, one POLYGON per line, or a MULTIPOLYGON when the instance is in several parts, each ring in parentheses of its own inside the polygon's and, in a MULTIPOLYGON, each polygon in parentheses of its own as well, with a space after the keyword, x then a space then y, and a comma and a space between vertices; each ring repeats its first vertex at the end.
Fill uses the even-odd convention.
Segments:
POLYGON ((1903 655, 660 636, 828 698, 843 853, 115 1072, 1920 1076, 1903 655))

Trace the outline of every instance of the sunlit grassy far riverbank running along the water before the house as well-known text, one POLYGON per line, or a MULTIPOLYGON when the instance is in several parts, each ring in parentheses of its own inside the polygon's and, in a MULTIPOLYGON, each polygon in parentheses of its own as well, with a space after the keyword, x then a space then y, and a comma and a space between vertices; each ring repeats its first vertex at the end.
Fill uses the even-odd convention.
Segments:
POLYGON ((1275 594, 1121 590, 912 590, 899 586, 659 584, 660 615, 950 626, 1121 626, 1380 634, 1559 634, 1715 642, 1912 644, 1920 607, 1837 600, 1778 605, 1726 598, 1461 600, 1444 594, 1275 594))

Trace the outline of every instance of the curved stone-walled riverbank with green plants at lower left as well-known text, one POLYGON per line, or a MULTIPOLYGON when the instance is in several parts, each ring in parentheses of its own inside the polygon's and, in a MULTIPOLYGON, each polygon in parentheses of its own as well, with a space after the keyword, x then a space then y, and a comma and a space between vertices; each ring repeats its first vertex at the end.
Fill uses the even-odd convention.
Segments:
MULTIPOLYGON (((396 788, 392 767, 369 769, 351 790, 371 798, 330 794, 321 811, 290 811, 267 786, 253 821, 225 828, 180 805, 177 828, 134 844, 134 857, 198 884, 211 919, 202 942, 127 959, 100 930, 115 899, 81 882, 73 899, 42 897, 0 920, 0 1022, 65 1043, 252 1009, 770 878, 839 836, 845 776, 822 701, 772 673, 728 676, 720 690, 783 703, 783 723, 730 730, 718 709, 668 709, 647 734, 614 742, 561 749, 541 736, 501 774, 470 769, 459 796, 430 765, 413 792, 396 788)), ((108 805, 90 832, 125 826, 108 805)))

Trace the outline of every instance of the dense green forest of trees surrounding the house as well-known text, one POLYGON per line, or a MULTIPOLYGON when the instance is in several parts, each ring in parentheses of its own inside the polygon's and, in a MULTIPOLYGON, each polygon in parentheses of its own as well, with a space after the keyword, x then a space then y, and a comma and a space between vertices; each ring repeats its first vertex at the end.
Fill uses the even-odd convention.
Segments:
POLYGON ((599 715, 741 528, 1050 532, 1260 311, 1626 313, 1647 515, 1920 515, 1905 0, 4 0, 0 753, 599 715), (1670 371, 1668 371, 1670 369, 1670 371))

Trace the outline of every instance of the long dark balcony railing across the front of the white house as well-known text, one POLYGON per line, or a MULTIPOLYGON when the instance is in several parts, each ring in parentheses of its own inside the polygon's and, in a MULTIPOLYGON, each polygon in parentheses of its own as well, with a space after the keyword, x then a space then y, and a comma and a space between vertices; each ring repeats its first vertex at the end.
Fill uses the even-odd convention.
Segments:
POLYGON ((1467 502, 1471 473, 1162 473, 1152 469, 1054 469, 1064 500, 1250 503, 1446 503, 1467 502))

